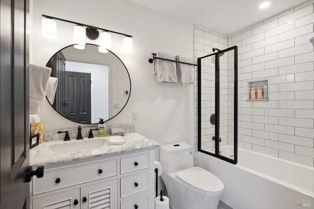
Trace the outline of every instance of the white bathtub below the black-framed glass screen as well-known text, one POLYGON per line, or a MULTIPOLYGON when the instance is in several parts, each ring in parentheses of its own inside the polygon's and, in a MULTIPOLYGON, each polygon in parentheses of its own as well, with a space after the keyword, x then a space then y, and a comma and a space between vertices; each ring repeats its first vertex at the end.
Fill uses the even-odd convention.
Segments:
MULTIPOLYGON (((233 155, 230 145, 219 151, 233 155)), ((236 165, 197 153, 197 165, 224 183, 221 201, 233 209, 314 209, 313 167, 241 148, 237 153, 236 165)))

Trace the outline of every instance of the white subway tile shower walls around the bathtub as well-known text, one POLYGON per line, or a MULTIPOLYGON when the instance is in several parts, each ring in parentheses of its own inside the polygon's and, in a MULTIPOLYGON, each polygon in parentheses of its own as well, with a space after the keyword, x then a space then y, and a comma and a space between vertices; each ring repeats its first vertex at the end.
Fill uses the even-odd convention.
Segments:
MULTIPOLYGON (((212 53, 212 47, 238 47, 238 147, 314 166, 314 47, 309 42, 312 37, 313 0, 228 37, 195 26, 195 59, 200 57, 198 54, 204 56, 212 53), (246 100, 246 83, 252 79, 269 79, 269 101, 246 100)), ((229 66, 231 65, 228 65, 228 69, 229 66)), ((208 80, 209 83, 208 101, 214 101, 213 69, 214 65, 210 63, 211 75, 202 75, 202 79, 208 80)), ((203 68, 202 70, 204 71, 203 68)), ((230 82, 232 77, 226 77, 230 82)), ((197 79, 196 77, 195 89, 197 79)), ((226 83, 228 85, 228 82, 226 83)), ((203 91, 202 93, 205 93, 205 89, 203 91)), ((197 102, 195 104, 197 146, 197 102)), ((207 113, 211 114, 214 104, 207 104, 204 107, 208 110, 207 113)), ((233 119, 232 112, 226 113, 229 113, 228 118, 233 119)), ((204 119, 207 120, 208 117, 204 119)), ((226 123, 230 124, 228 121, 226 123)), ((209 127, 208 130, 205 126, 204 130, 202 129, 204 138, 206 133, 214 132, 214 127, 209 127)), ((229 127, 227 132, 230 132, 229 127)), ((229 135, 232 134, 228 134, 228 137, 229 135)), ((204 139, 202 148, 211 146, 211 138, 207 137, 206 141, 204 139), (206 143, 208 144, 205 145, 206 143)))

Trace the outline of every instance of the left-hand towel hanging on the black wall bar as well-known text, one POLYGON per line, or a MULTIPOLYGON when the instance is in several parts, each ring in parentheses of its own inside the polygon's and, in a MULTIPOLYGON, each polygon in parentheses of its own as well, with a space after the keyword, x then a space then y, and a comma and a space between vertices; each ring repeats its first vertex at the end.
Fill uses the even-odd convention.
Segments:
MULTIPOLYGON (((159 58, 176 60, 176 57, 171 54, 156 52, 156 56, 159 58)), ((157 82, 177 82, 177 69, 176 62, 155 59, 153 63, 153 72, 157 74, 157 82)))

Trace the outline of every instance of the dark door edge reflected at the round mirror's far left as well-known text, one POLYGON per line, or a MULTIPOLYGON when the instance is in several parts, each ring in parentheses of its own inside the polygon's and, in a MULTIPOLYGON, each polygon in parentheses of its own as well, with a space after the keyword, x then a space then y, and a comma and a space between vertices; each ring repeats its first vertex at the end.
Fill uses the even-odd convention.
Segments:
POLYGON ((65 57, 62 52, 56 53, 47 63, 52 68, 52 77, 58 78, 58 86, 52 106, 61 115, 64 115, 64 93, 65 93, 65 57))

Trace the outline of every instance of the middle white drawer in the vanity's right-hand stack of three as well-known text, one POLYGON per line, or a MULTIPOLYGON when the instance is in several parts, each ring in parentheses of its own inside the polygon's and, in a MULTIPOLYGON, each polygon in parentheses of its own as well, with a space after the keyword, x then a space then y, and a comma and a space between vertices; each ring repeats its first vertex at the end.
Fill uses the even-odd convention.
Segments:
POLYGON ((121 178, 121 197, 148 189, 149 172, 121 178))

